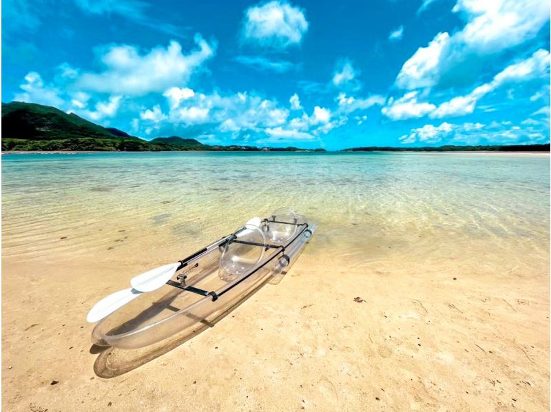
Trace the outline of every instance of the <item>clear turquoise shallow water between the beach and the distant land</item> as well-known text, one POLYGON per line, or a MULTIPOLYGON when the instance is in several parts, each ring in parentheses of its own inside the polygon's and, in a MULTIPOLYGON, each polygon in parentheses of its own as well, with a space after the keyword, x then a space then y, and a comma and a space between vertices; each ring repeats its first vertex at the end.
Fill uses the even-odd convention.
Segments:
POLYGON ((342 265, 471 241, 548 256, 549 166, 499 154, 3 156, 3 256, 161 262, 285 205, 319 224, 316 253, 342 265))

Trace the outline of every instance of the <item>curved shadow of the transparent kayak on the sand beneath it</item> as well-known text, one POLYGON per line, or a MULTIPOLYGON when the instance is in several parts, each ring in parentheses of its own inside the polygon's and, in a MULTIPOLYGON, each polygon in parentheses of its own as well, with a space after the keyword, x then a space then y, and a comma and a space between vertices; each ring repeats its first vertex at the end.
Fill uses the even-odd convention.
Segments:
POLYGON ((252 289, 249 293, 247 293, 247 295, 243 296, 243 298, 238 300, 231 307, 225 309, 222 313, 218 313, 212 318, 198 320, 198 324, 196 324, 193 330, 182 331, 156 344, 140 349, 100 347, 93 344, 92 347, 90 347, 90 353, 99 353, 98 358, 96 358, 96 362, 94 362, 94 373, 96 373, 96 375, 100 378, 115 378, 116 376, 133 371, 134 369, 141 367, 147 362, 151 362, 159 356, 163 356, 165 353, 180 346, 180 344, 194 338, 199 333, 214 327, 216 323, 220 322, 220 320, 229 315, 229 313, 245 302, 245 300, 249 299, 254 293, 256 293, 256 291, 258 291, 258 289, 266 285, 269 280, 270 278, 267 278, 267 280, 260 283, 258 287, 252 289))

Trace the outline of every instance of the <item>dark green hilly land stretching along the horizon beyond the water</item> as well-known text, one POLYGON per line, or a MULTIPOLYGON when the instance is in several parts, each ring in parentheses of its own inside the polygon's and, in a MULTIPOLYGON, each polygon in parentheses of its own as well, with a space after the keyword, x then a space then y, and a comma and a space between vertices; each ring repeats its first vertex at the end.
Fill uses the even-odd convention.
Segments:
MULTIPOLYGON (((249 152, 325 152, 299 147, 205 145, 194 138, 157 137, 151 141, 131 136, 114 127, 103 127, 56 107, 13 101, 2 103, 2 151, 160 152, 176 150, 249 152)), ((342 152, 549 152, 542 145, 484 145, 439 147, 352 147, 342 152)))

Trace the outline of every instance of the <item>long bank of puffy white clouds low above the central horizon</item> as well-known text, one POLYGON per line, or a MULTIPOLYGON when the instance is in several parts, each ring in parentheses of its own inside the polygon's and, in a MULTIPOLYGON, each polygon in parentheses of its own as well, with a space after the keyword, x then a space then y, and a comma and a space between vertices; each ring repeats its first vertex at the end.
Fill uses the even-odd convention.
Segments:
POLYGON ((191 89, 172 88, 165 92, 165 97, 169 105, 166 114, 155 105, 141 112, 135 126, 141 127, 146 134, 160 129, 166 131, 170 127, 173 130, 202 127, 202 132, 216 130, 240 141, 250 141, 264 134, 275 142, 319 138, 347 120, 346 116, 333 114, 329 108, 319 105, 310 115, 306 114, 298 94, 289 99, 293 118, 291 111, 278 101, 254 93, 203 94, 191 89))

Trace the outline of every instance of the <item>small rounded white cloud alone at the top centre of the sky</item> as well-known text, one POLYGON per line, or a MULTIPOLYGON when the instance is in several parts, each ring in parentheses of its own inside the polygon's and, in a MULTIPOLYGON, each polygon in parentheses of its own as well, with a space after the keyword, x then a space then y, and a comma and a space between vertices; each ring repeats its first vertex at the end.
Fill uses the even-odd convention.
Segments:
POLYGON ((300 44, 307 30, 302 9, 286 1, 270 1, 245 10, 242 37, 260 45, 287 48, 300 44))

